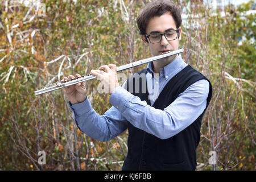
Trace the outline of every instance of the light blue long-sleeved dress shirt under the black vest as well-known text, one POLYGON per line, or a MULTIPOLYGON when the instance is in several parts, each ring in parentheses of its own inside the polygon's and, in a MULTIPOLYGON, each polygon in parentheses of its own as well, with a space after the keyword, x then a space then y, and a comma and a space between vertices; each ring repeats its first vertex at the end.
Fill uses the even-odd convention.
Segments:
MULTIPOLYGON (((154 95, 150 100, 151 105, 167 82, 186 66, 179 55, 172 63, 160 68, 160 76, 156 77, 152 70, 152 62, 148 63, 147 84, 152 84, 148 86, 148 93, 154 95), (157 90, 154 89, 155 86, 157 90)), ((76 125, 91 138, 100 141, 113 139, 125 131, 127 122, 130 122, 138 129, 160 139, 167 139, 191 125, 203 113, 207 105, 208 93, 209 82, 204 79, 199 80, 179 94, 172 104, 160 110, 147 105, 146 101, 141 101, 139 97, 119 86, 110 96, 112 107, 103 115, 96 113, 88 98, 79 104, 68 103, 73 111, 76 125)))

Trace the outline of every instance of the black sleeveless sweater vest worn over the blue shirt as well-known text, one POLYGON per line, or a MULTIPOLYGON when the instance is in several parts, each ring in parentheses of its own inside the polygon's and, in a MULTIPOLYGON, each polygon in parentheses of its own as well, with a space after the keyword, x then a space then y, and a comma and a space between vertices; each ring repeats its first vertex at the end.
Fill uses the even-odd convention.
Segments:
MULTIPOLYGON (((141 73, 146 76, 146 72, 146 69, 142 69, 142 71, 137 72, 138 74, 131 76, 127 80, 126 83, 128 84, 125 85, 125 88, 129 90, 129 85, 133 84, 133 89, 135 89, 135 85, 138 85, 139 82, 139 93, 135 93, 134 90, 131 93, 151 105, 150 100, 148 100, 147 89, 146 93, 142 91, 143 79, 138 76, 141 73)), ((152 106, 164 110, 188 86, 201 79, 209 82, 208 107, 212 97, 212 85, 206 77, 189 65, 168 81, 152 106)), ((122 170, 195 170, 196 147, 200 142, 201 120, 205 110, 191 125, 168 139, 160 139, 128 123, 128 154, 122 170)))

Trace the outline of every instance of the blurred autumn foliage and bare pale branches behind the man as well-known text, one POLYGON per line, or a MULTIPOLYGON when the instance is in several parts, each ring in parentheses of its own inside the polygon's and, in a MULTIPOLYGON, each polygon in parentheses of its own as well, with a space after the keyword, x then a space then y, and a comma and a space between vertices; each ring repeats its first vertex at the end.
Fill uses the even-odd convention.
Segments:
MULTIPOLYGON (((109 142, 91 139, 77 129, 63 90, 34 91, 100 65, 150 57, 135 23, 146 2, 46 0, 42 15, 36 6, 0 1, 1 170, 121 169, 127 131, 109 142), (38 164, 42 150, 45 165, 38 164)), ((255 14, 245 15, 253 1, 225 6, 225 16, 210 2, 174 2, 188 15, 181 26, 183 59, 213 86, 197 169, 255 170, 255 14), (216 165, 208 162, 212 150, 216 165)), ((93 109, 103 114, 111 105, 108 94, 97 93, 98 83, 86 88, 93 109)))

